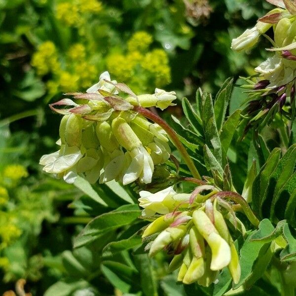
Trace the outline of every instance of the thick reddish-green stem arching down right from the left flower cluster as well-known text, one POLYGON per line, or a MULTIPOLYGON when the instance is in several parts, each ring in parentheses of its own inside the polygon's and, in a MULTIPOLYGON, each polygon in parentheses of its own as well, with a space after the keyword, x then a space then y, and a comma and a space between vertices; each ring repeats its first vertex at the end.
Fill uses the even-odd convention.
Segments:
POLYGON ((162 118, 155 115, 151 111, 149 111, 149 110, 147 110, 147 109, 145 109, 143 107, 140 107, 140 106, 134 106, 134 111, 141 113, 143 116, 147 117, 148 119, 151 119, 152 121, 154 121, 155 123, 160 125, 167 132, 167 134, 169 135, 171 141, 174 143, 176 148, 181 153, 181 155, 182 155, 188 169, 190 170, 192 176, 195 179, 201 179, 197 168, 195 167, 195 165, 194 165, 191 157, 189 156, 187 150, 185 149, 185 147, 183 146, 183 144, 179 140, 178 135, 176 134, 176 132, 162 118))

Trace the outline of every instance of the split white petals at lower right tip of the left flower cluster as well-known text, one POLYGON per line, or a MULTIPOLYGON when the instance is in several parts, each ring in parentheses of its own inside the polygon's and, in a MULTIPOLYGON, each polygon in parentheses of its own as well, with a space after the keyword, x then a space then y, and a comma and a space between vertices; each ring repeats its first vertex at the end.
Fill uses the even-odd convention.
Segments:
POLYGON ((142 183, 151 183, 154 164, 147 150, 140 146, 127 151, 125 155, 129 158, 130 164, 123 175, 123 185, 130 184, 138 178, 142 183))

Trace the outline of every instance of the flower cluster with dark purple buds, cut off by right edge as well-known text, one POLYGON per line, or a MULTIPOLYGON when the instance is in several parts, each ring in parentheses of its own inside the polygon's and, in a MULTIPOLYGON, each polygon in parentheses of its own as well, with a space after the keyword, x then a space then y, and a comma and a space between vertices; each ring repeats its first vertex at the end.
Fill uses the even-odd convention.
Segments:
MULTIPOLYGON (((289 3, 291 0, 287 0, 289 3)), ((247 80, 252 88, 249 92, 250 102, 248 113, 253 115, 252 121, 265 118, 271 114, 271 118, 277 111, 281 111, 288 117, 291 116, 289 108, 285 103, 295 104, 296 83, 296 20, 295 12, 291 6, 286 9, 282 1, 277 1, 280 7, 269 11, 261 17, 257 25, 246 30, 241 36, 232 40, 232 49, 240 51, 254 46, 259 36, 269 28, 273 28, 274 47, 269 50, 274 52, 262 62, 255 71, 258 73, 256 82, 247 80)), ((292 5, 293 6, 293 5, 292 5)))

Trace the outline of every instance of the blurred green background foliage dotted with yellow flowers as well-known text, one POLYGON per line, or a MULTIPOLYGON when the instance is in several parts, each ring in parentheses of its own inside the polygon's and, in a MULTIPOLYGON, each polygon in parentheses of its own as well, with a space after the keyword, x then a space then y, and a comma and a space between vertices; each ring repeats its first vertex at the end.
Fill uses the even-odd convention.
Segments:
MULTIPOLYGON (((112 270, 122 268, 133 279, 147 264, 138 255, 140 267, 131 266, 124 253, 119 265, 106 261, 98 273, 104 245, 70 251, 81 224, 106 210, 40 173, 38 159, 58 138, 58 115, 48 103, 85 91, 105 70, 136 93, 164 87, 181 99, 193 97, 196 86, 217 92, 226 77, 253 74, 265 58, 264 42, 248 55, 230 43, 268 9, 258 0, 0 0, 0 293, 25 278, 33 295, 53 284, 46 295, 97 295, 99 274, 106 285, 100 295, 112 295, 103 274, 112 283, 112 270)), ((114 196, 113 209, 126 203, 114 196)))

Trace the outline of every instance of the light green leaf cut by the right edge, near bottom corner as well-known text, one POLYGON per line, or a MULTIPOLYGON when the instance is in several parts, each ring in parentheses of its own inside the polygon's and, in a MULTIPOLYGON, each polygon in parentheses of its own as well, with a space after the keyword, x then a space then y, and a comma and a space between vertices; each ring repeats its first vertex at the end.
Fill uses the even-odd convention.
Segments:
POLYGON ((281 261, 296 260, 296 230, 285 224, 283 227, 283 237, 287 242, 287 247, 280 253, 281 261))

